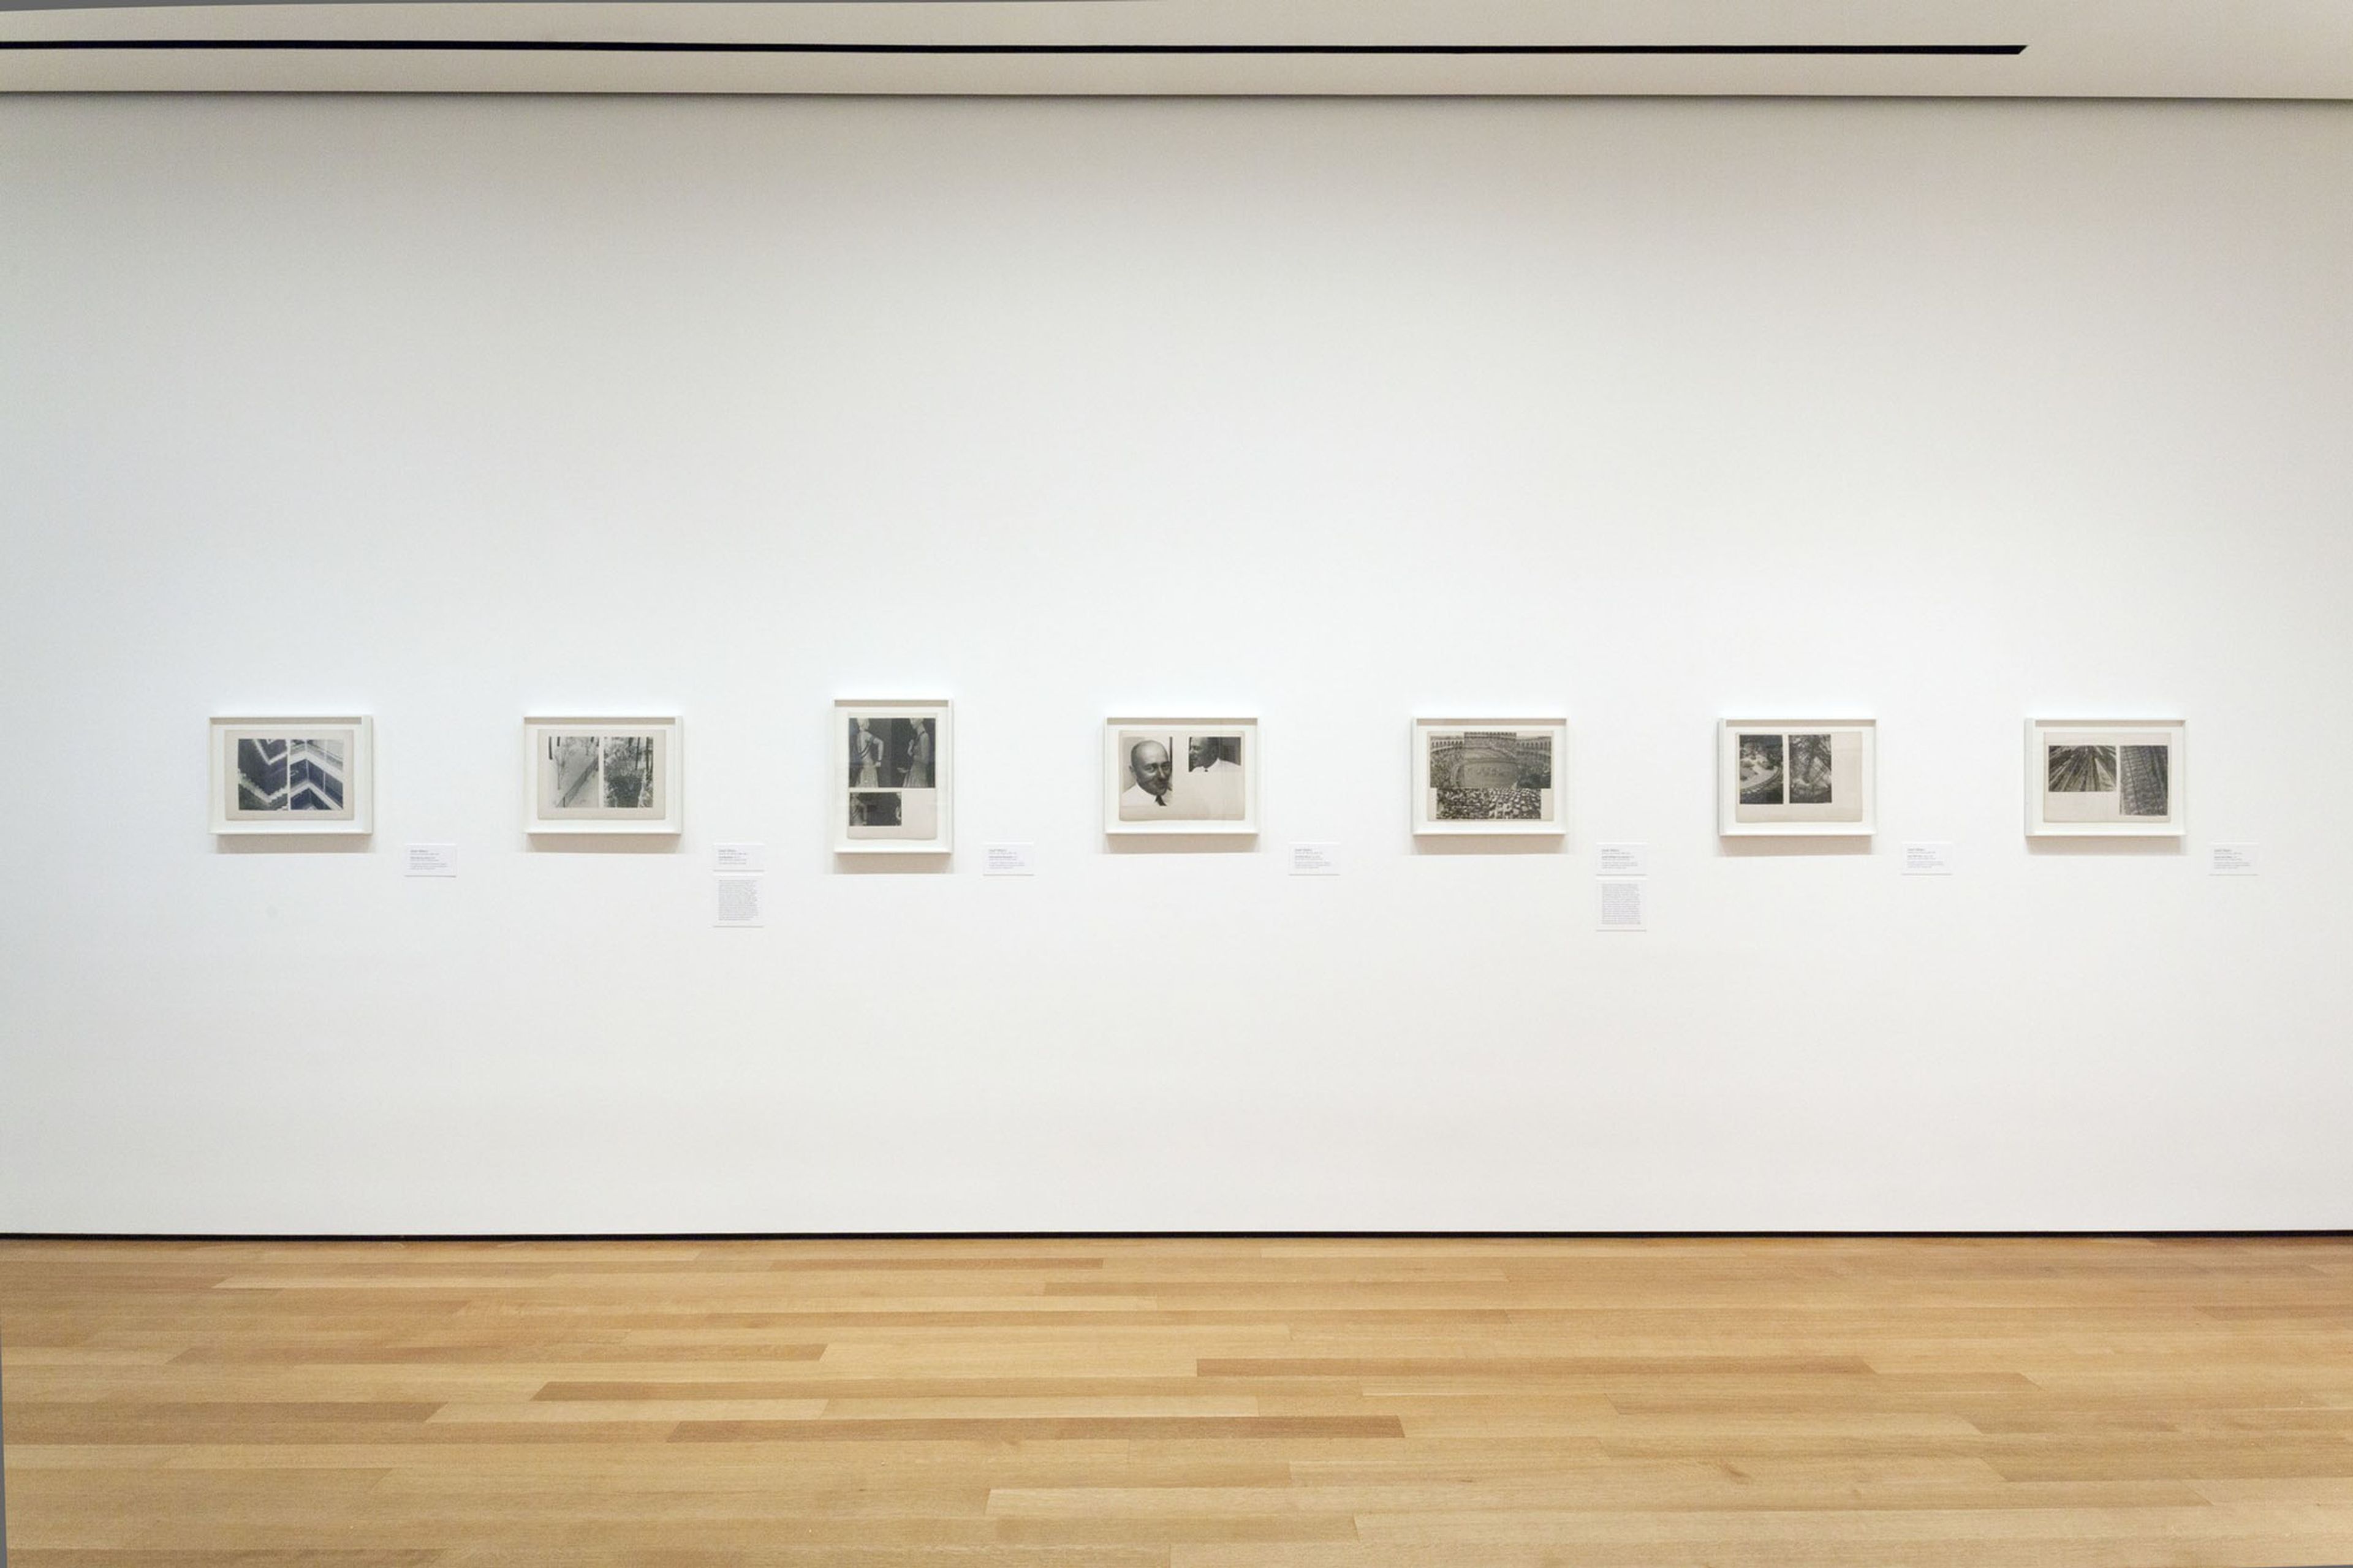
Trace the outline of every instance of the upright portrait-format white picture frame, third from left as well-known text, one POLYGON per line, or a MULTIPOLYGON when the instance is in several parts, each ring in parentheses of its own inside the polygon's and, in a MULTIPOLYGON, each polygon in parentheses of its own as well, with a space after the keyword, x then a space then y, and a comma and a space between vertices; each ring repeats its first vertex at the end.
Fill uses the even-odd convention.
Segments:
POLYGON ((833 704, 835 855, 955 850, 955 704, 840 697, 833 704))

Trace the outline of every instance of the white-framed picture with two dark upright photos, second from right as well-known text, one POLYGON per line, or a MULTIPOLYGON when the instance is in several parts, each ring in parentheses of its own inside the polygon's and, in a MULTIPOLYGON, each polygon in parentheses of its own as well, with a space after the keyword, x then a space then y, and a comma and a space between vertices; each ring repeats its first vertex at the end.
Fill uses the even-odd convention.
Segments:
POLYGON ((1715 831, 1722 838, 1871 838, 1880 826, 1873 718, 1715 723, 1715 831))

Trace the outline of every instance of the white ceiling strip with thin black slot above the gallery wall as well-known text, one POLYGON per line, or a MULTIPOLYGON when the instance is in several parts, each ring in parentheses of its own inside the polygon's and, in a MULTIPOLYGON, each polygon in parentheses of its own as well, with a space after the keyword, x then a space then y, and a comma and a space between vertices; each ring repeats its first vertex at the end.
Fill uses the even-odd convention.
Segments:
POLYGON ((0 0, 0 92, 2348 99, 2353 0, 0 0))

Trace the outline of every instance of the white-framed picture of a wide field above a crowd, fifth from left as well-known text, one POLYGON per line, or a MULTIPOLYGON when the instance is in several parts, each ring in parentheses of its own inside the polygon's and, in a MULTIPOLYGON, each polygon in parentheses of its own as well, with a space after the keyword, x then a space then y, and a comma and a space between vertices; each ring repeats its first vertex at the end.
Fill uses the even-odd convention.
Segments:
POLYGON ((1414 718, 1414 836, 1569 831, 1567 718, 1414 718), (1539 782, 1541 779, 1541 782, 1539 782))

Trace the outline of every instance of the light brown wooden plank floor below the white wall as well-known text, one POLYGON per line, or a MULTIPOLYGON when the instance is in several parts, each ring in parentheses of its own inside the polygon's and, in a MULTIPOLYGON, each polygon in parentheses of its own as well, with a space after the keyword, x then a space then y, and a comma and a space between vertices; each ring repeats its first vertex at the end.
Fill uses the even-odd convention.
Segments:
POLYGON ((0 1243, 12 1568, 2353 1563, 2353 1241, 0 1243))

